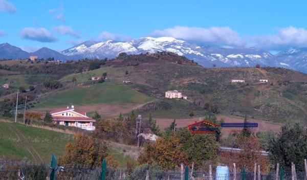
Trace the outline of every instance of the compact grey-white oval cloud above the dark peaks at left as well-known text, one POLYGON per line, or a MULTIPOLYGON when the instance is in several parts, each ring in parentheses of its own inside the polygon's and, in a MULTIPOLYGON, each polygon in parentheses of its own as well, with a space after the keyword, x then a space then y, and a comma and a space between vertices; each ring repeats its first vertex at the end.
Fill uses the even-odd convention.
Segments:
POLYGON ((20 31, 21 39, 30 39, 39 42, 56 42, 56 39, 47 29, 45 28, 31 28, 27 27, 20 31))

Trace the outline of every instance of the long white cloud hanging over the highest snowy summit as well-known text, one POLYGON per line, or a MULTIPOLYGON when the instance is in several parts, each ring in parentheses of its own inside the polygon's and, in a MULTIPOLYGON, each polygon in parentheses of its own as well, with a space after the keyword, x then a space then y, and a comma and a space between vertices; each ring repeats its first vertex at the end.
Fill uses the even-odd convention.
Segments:
POLYGON ((186 41, 197 41, 217 46, 243 46, 244 40, 229 27, 199 27, 175 26, 164 30, 155 30, 152 36, 170 36, 186 41))

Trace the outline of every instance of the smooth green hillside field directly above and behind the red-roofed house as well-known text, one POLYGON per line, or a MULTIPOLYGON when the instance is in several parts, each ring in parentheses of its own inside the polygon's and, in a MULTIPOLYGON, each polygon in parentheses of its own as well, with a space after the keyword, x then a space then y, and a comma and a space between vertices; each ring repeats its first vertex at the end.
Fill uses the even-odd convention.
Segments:
POLYGON ((52 99, 46 99, 36 107, 66 106, 89 104, 143 104, 153 99, 125 85, 114 82, 103 82, 74 89, 65 89, 55 94, 52 99))

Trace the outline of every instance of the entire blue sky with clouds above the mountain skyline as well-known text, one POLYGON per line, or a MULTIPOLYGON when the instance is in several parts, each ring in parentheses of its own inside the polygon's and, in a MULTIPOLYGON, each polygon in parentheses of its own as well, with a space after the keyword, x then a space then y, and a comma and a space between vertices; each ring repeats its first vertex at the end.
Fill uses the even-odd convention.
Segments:
POLYGON ((28 52, 85 40, 172 36, 202 45, 307 47, 307 1, 0 0, 0 43, 28 52))

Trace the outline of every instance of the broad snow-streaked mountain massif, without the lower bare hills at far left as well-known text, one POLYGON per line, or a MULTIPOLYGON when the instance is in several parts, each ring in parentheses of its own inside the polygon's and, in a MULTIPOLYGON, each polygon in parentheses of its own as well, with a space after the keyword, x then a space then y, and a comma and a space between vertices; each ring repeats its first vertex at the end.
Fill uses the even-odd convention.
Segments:
POLYGON ((205 67, 216 66, 255 66, 256 64, 283 66, 269 52, 255 48, 210 48, 173 37, 143 37, 126 42, 107 40, 94 43, 86 41, 68 50, 64 55, 81 55, 86 58, 114 58, 119 53, 127 54, 153 53, 169 51, 186 56, 205 67))

